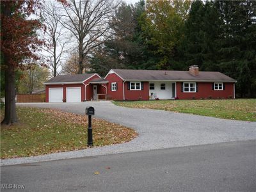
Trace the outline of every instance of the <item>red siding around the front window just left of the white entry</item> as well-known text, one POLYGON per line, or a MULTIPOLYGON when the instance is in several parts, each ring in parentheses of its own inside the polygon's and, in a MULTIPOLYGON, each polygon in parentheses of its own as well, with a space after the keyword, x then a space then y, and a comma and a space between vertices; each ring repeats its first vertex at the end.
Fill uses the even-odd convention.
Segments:
POLYGON ((149 88, 148 82, 143 82, 143 90, 128 90, 127 82, 124 84, 124 95, 125 100, 148 100, 149 99, 149 88))

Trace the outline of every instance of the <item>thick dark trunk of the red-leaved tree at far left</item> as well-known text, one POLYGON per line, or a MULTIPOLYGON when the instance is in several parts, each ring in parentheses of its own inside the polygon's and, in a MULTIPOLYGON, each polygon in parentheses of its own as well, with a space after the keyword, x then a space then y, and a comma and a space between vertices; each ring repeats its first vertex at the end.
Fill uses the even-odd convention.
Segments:
MULTIPOLYGON (((8 63, 8 58, 6 58, 6 63, 8 63)), ((5 72, 5 111, 4 120, 1 124, 14 124, 17 122, 16 115, 16 102, 15 102, 15 67, 13 65, 8 65, 5 72)))

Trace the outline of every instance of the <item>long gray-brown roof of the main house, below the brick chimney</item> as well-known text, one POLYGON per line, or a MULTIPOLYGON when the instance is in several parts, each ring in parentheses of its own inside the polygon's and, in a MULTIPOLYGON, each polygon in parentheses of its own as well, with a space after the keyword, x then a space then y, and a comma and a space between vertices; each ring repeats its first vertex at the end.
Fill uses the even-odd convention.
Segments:
POLYGON ((124 80, 167 80, 167 81, 230 81, 235 79, 221 72, 202 72, 198 76, 192 76, 188 71, 177 70, 131 70, 112 69, 124 80))

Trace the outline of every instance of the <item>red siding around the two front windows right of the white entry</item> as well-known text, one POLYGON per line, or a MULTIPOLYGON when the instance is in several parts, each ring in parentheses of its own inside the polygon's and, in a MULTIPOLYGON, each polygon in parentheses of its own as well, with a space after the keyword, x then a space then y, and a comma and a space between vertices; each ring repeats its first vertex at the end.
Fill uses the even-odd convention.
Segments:
POLYGON ((181 92, 181 83, 176 83, 178 99, 230 99, 234 97, 234 83, 225 83, 225 90, 212 90, 212 83, 198 83, 198 92, 181 92))

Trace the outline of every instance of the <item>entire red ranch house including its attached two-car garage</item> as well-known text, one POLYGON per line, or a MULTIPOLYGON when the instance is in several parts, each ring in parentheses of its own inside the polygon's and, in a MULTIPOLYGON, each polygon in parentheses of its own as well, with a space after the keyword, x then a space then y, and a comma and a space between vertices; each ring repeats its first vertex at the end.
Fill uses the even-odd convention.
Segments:
POLYGON ((46 102, 84 100, 234 99, 236 80, 220 72, 111 69, 98 74, 57 76, 45 83, 46 102))

